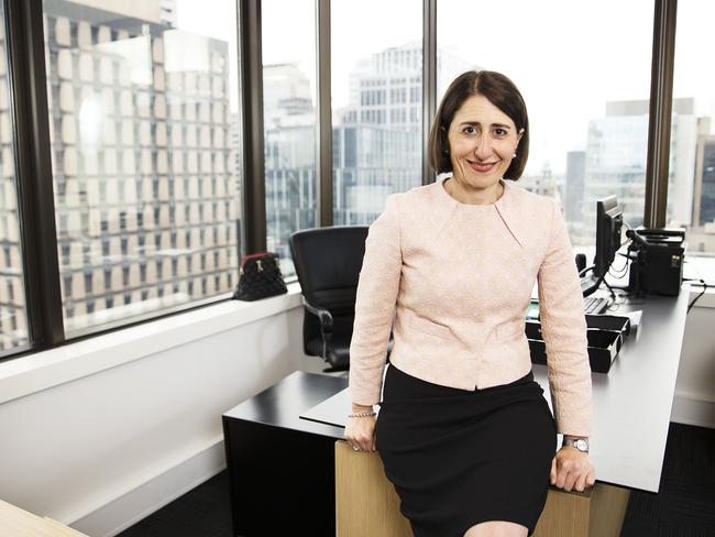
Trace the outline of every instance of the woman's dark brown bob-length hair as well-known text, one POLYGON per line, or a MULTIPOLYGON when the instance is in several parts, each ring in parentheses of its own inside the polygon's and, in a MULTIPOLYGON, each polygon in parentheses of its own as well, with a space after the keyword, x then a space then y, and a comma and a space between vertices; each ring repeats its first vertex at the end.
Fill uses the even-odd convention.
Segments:
POLYGON ((512 80, 493 70, 468 70, 458 76, 447 88, 429 133, 429 165, 438 173, 452 172, 449 155, 448 132, 454 114, 473 95, 486 97, 492 105, 506 113, 516 125, 517 133, 524 129, 516 156, 504 173, 505 179, 517 180, 524 173, 529 157, 529 116, 521 94, 512 80))

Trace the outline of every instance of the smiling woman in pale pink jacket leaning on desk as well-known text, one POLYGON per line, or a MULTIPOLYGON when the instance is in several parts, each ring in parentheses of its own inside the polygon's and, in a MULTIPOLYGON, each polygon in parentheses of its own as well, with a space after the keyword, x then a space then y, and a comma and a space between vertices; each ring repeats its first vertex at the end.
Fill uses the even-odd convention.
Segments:
POLYGON ((452 175, 388 196, 370 228, 345 438, 380 450, 416 537, 531 535, 549 481, 595 480, 583 297, 557 202, 510 183, 528 151, 515 85, 464 73, 429 141, 431 166, 452 175), (556 419, 524 333, 535 281, 556 419))

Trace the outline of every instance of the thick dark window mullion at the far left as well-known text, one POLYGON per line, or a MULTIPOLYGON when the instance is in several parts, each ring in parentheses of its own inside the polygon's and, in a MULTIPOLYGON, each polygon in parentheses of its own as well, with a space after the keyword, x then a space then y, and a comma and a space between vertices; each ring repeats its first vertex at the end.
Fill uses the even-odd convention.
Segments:
POLYGON ((57 259, 42 0, 8 0, 11 102, 28 325, 35 349, 65 339, 57 259))

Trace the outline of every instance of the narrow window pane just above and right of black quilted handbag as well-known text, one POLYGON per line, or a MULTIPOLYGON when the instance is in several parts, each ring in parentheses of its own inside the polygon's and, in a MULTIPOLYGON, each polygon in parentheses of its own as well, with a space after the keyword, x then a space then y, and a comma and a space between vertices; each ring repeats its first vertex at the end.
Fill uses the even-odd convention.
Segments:
POLYGON ((317 224, 315 2, 264 0, 266 242, 295 274, 288 238, 317 224))

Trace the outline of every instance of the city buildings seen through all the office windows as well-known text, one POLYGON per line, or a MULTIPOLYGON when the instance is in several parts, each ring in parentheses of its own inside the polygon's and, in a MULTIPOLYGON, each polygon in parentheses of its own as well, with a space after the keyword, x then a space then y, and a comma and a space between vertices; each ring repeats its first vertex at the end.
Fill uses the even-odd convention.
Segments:
MULTIPOLYGON (((230 2, 220 4, 235 14, 230 2)), ((270 12, 276 3, 266 6, 270 12)), ((340 6, 345 7, 336 2, 340 6)), ((51 157, 67 333, 228 293, 235 283, 242 167, 235 25, 228 40, 215 37, 231 28, 224 18, 210 32, 193 31, 189 26, 201 24, 182 26, 185 7, 183 0, 136 6, 45 0, 51 157)), ((345 13, 334 13, 333 23, 344 23, 345 13)), ((305 9, 301 17, 315 22, 305 9)), ((334 84, 333 97, 341 86, 348 97, 342 106, 339 97, 333 99, 333 222, 370 224, 387 195, 422 182, 421 40, 395 45, 381 37, 370 47, 380 42, 382 48, 366 53, 369 48, 353 47, 341 57, 342 42, 351 34, 340 35, 333 43, 333 81, 338 75, 344 79, 334 84)), ((264 40, 272 40, 270 32, 264 40)), ((310 45, 310 39, 304 41, 310 45)), ((283 41, 288 52, 266 48, 264 138, 268 248, 279 252, 290 276, 288 237, 317 224, 319 186, 315 55, 302 64, 267 63, 268 57, 296 55, 304 46, 286 43, 293 42, 283 41)), ((471 63, 461 52, 447 41, 438 47, 439 88, 454 73, 490 63, 488 56, 484 65, 471 63)), ((6 182, 0 342, 10 348, 26 338, 26 324, 10 100, 7 89, 0 94, 6 182)), ((559 133, 551 141, 552 129, 531 125, 530 165, 520 184, 561 201, 574 244, 593 241, 593 200, 607 194, 618 195, 629 224, 642 221, 648 99, 613 100, 607 95, 583 107, 598 113, 579 125, 585 132, 582 149, 558 145, 568 135, 559 133), (550 150, 540 152, 544 144, 550 150)), ((690 226, 694 251, 715 250, 715 143, 710 116, 701 113, 705 109, 697 96, 673 100, 668 217, 669 223, 690 226)))

